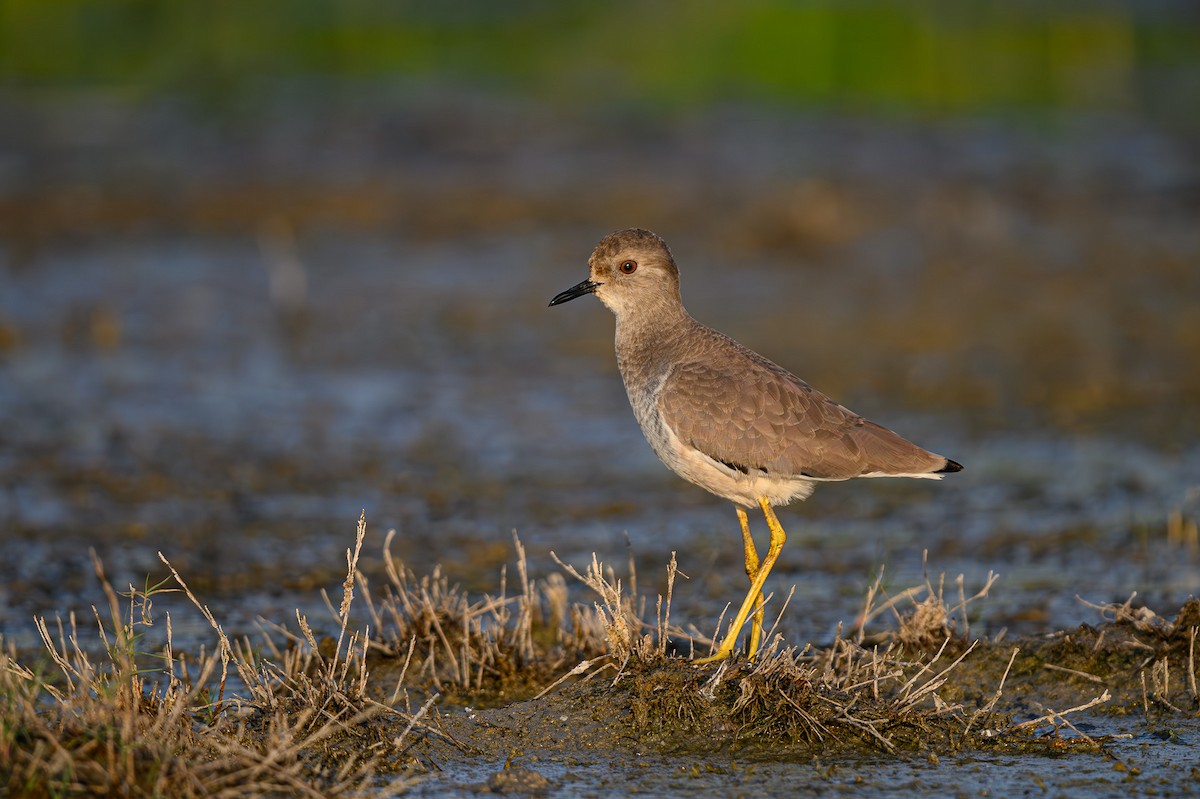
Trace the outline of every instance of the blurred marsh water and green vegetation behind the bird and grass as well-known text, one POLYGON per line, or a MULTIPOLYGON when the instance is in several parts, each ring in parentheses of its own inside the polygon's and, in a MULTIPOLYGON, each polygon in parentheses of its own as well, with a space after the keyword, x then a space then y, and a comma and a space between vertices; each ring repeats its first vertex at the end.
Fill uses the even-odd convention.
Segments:
POLYGON ((991 632, 1200 590, 1194 2, 0 0, 0 632, 94 601, 89 548, 286 615, 364 507, 368 572, 395 528, 478 590, 514 530, 535 576, 628 536, 650 595, 678 549, 710 625, 732 509, 642 440, 607 311, 546 307, 629 226, 967 467, 784 511, 785 635, 926 549, 1001 572, 991 632))

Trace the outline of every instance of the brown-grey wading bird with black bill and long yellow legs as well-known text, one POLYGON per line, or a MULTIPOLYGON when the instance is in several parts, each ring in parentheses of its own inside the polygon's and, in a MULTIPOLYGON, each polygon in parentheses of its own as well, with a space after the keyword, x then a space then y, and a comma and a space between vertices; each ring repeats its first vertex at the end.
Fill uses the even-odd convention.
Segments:
POLYGON ((928 477, 961 471, 890 429, 863 419, 683 306, 679 268, 650 230, 610 233, 588 259, 588 277, 551 306, 594 294, 617 320, 617 367, 646 440, 684 480, 733 503, 742 528, 746 593, 716 650, 730 659, 746 620, 754 660, 762 641, 763 584, 786 541, 774 507, 805 499, 818 482, 928 477), (770 530, 760 559, 746 513, 770 530))

